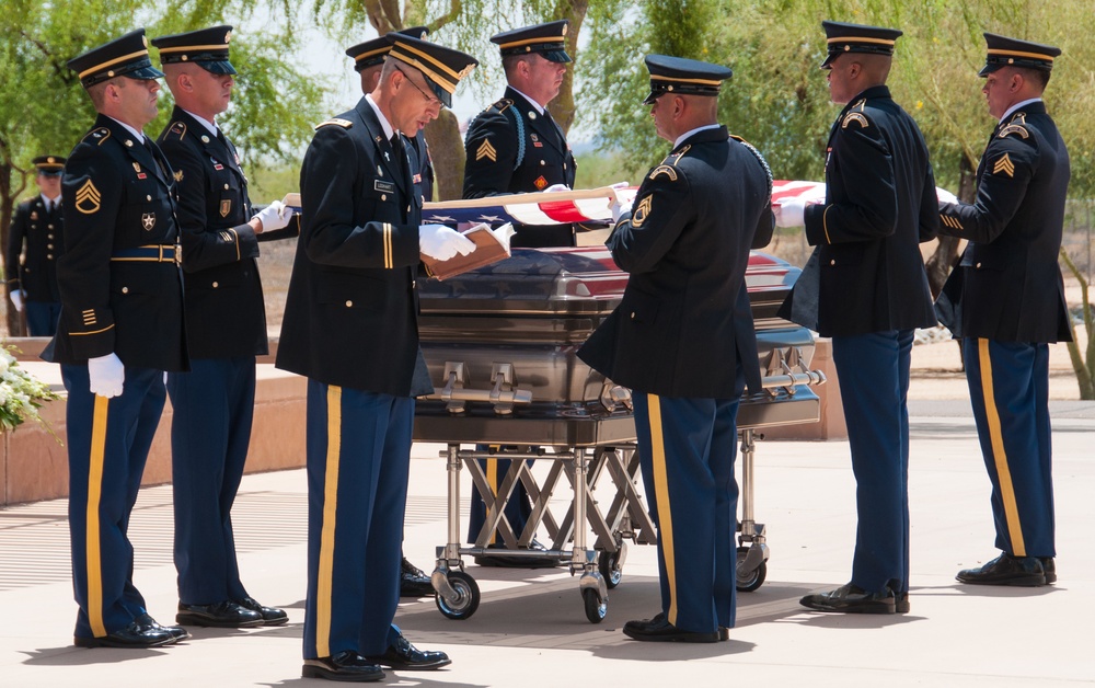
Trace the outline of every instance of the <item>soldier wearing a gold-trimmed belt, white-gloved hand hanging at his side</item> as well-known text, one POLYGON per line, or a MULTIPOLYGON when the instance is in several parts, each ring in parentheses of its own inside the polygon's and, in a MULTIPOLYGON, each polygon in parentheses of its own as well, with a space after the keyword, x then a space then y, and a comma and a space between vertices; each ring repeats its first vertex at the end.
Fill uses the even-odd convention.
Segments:
POLYGON ((69 60, 99 112, 61 177, 61 317, 43 358, 68 390, 69 529, 81 647, 154 647, 187 632, 149 616, 126 531, 165 398, 186 369, 171 167, 141 129, 163 73, 139 28, 69 60))

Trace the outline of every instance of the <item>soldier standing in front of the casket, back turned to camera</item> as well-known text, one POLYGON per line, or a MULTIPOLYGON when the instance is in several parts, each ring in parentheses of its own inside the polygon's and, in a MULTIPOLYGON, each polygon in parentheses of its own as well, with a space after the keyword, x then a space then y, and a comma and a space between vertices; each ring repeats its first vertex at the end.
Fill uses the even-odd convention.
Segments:
POLYGON ((760 390, 749 250, 772 238, 772 175, 718 124, 730 69, 648 55, 643 101, 669 156, 634 206, 613 206, 607 246, 631 274, 578 356, 630 387, 643 483, 658 526, 661 609, 629 621, 641 641, 716 642, 735 620, 737 412, 760 390))

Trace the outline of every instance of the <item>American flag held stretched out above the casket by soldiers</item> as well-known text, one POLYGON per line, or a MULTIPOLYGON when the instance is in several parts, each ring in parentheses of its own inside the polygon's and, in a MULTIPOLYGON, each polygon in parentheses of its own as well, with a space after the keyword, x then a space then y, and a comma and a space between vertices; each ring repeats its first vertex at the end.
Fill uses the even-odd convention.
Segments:
MULTIPOLYGON (((954 196, 942 188, 936 190, 941 200, 953 200, 954 196)), ((509 194, 470 198, 464 200, 442 200, 423 206, 423 222, 458 225, 461 222, 491 226, 515 222, 518 225, 563 225, 566 222, 608 223, 612 220, 612 202, 620 199, 625 206, 635 200, 637 187, 600 188, 543 192, 533 194, 509 194)), ((807 203, 825 200, 823 182, 799 182, 776 180, 772 183, 772 203, 780 205, 788 199, 807 203)))

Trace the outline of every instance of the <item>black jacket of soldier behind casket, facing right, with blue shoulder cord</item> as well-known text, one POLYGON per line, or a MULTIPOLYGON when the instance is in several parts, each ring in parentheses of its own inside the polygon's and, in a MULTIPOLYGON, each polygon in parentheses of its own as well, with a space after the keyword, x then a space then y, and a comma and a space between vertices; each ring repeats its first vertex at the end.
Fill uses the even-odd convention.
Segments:
MULTIPOLYGON (((469 125, 464 150, 464 198, 534 193, 554 184, 574 188, 574 154, 563 130, 511 87, 469 125)), ((574 245, 573 225, 517 229, 514 245, 574 245)))

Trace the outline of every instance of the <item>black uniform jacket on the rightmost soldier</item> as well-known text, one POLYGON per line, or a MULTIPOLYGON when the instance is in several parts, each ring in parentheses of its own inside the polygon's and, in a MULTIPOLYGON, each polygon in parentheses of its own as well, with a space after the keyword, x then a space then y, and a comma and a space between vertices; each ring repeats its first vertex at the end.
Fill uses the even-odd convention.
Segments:
POLYGON ((937 306, 956 337, 1072 341, 1058 263, 1069 176, 1069 151, 1039 101, 992 133, 973 204, 940 204, 940 232, 970 241, 937 306))

